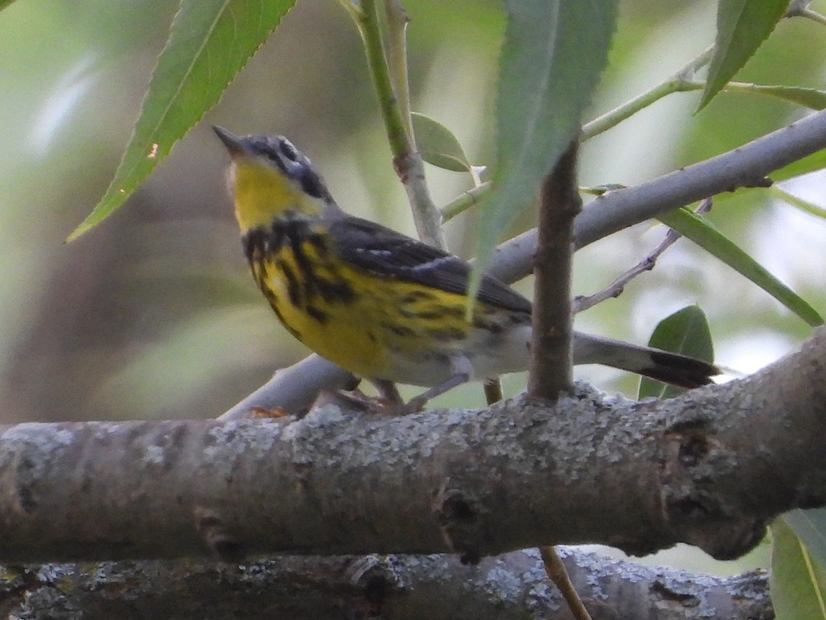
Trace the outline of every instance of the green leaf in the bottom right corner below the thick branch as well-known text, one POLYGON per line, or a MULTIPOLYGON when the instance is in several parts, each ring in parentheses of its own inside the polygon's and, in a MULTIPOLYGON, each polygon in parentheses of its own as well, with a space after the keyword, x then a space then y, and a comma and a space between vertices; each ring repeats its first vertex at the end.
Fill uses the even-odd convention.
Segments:
POLYGON ((783 518, 771 524, 769 587, 777 620, 826 618, 826 570, 783 518))

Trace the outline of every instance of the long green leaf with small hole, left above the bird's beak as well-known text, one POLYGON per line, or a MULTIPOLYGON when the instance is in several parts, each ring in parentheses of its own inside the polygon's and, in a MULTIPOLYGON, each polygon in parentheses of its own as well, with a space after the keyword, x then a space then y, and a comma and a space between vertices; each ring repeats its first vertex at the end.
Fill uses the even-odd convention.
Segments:
POLYGON ((215 105, 294 0, 183 0, 152 73, 112 184, 69 236, 96 226, 129 198, 173 144, 215 105))

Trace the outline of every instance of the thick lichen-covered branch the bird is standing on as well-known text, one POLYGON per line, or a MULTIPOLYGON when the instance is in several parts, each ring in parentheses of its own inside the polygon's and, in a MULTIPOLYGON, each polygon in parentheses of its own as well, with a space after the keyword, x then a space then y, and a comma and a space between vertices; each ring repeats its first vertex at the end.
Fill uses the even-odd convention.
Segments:
POLYGON ((556 543, 738 556, 826 504, 826 330, 667 401, 296 422, 21 424, 0 436, 0 560, 455 552, 556 543), (790 432, 794 429, 794 432, 790 432), (565 498, 564 502, 559 498, 565 498), (343 536, 346 532, 346 537, 343 536))

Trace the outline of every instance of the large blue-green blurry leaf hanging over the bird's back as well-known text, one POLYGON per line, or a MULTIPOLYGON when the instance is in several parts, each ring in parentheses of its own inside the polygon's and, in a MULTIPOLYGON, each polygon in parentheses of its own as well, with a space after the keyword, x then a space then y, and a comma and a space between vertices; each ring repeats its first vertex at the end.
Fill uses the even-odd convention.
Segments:
POLYGON ((617 0, 506 0, 493 191, 480 208, 471 289, 496 242, 577 136, 615 30, 617 0))

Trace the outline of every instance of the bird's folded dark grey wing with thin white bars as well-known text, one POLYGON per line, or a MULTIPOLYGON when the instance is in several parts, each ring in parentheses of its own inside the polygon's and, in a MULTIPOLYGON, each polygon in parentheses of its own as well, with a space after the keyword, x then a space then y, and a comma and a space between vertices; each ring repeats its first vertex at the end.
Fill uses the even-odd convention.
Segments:
MULTIPOLYGON (((448 293, 468 292, 467 262, 360 217, 330 222, 330 236, 339 257, 370 274, 423 284, 448 293)), ((498 308, 530 312, 530 302, 491 276, 482 276, 477 299, 498 308)))

